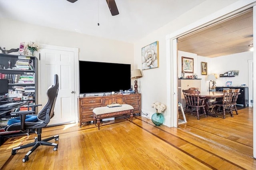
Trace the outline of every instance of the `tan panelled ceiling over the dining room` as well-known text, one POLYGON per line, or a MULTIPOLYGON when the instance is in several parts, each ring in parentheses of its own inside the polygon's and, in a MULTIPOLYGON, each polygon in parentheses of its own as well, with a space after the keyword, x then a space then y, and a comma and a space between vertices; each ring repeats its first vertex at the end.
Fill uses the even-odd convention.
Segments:
POLYGON ((249 51, 253 42, 252 10, 178 38, 178 50, 203 57, 249 51))

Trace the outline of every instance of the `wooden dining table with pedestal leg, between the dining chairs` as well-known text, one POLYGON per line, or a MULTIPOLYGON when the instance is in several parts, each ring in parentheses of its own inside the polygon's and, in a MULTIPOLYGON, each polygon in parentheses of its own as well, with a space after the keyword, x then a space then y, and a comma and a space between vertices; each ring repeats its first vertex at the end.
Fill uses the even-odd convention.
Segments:
POLYGON ((218 115, 212 114, 209 112, 209 99, 216 99, 216 98, 222 98, 223 92, 222 91, 206 91, 201 92, 199 95, 200 98, 205 98, 205 111, 206 115, 212 116, 212 117, 218 117, 218 115))

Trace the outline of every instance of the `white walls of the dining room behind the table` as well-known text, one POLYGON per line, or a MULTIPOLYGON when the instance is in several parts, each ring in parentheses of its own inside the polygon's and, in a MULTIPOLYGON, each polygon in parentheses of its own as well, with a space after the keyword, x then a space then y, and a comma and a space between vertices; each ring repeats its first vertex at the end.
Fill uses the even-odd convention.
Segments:
MULTIPOLYGON (((201 91, 208 91, 209 81, 207 81, 207 75, 201 75, 201 62, 207 63, 207 73, 217 74, 218 79, 216 86, 225 86, 226 81, 232 81, 232 86, 240 86, 242 84, 248 85, 248 60, 253 59, 252 51, 244 53, 236 53, 232 55, 225 55, 220 57, 208 58, 198 56, 195 53, 188 53, 184 51, 178 51, 178 77, 181 77, 181 58, 189 57, 194 58, 194 73, 198 75, 198 79, 202 79, 201 91), (227 71, 239 70, 239 75, 236 77, 220 77, 220 74, 227 71)), ((192 73, 185 73, 185 76, 192 75, 192 73)), ((212 83, 210 83, 212 86, 212 83)), ((250 99, 249 99, 250 101, 250 99)))

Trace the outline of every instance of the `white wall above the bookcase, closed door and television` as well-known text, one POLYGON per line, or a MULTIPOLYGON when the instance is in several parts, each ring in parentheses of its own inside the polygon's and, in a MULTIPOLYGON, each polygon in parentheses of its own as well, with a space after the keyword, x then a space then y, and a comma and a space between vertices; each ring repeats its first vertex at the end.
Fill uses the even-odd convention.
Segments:
POLYGON ((108 40, 0 18, 0 46, 19 48, 20 42, 79 48, 79 60, 128 63, 134 67, 132 43, 108 40))

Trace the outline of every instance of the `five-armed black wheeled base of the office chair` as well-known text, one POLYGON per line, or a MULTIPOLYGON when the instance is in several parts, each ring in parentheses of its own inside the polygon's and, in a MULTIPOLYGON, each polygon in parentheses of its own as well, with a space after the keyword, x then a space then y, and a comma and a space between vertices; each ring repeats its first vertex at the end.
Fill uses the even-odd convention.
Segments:
POLYGON ((46 138, 44 140, 41 140, 41 134, 38 134, 38 137, 35 137, 35 142, 32 142, 32 143, 29 143, 29 144, 25 144, 23 146, 18 146, 16 148, 13 148, 12 149, 12 155, 15 155, 17 150, 20 150, 20 149, 24 149, 24 148, 28 148, 28 147, 32 147, 28 153, 25 155, 25 157, 22 159, 22 162, 26 162, 28 161, 28 156, 34 152, 34 150, 36 150, 36 148, 38 148, 38 146, 40 145, 44 145, 44 146, 54 146, 53 150, 56 151, 58 149, 58 144, 57 143, 51 143, 51 142, 48 142, 49 140, 52 140, 52 139, 55 139, 55 141, 58 141, 59 140, 59 135, 55 135, 55 136, 52 136, 50 138, 46 138))

